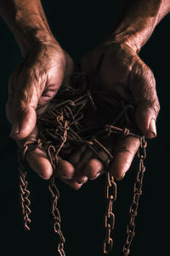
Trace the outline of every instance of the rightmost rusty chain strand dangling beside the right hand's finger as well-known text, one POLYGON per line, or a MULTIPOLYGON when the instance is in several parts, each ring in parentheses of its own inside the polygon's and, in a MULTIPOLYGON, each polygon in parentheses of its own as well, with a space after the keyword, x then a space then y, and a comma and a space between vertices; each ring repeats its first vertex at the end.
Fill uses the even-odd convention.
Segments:
POLYGON ((130 253, 129 248, 133 241, 133 237, 135 236, 134 219, 137 216, 137 211, 139 207, 139 197, 140 195, 142 195, 143 177, 145 172, 144 159, 146 158, 146 146, 147 146, 147 143, 144 137, 141 137, 140 146, 138 150, 139 169, 137 172, 136 182, 134 183, 134 186, 133 186, 133 202, 129 210, 130 221, 129 221, 129 224, 127 225, 127 239, 122 249, 123 256, 127 256, 130 253))

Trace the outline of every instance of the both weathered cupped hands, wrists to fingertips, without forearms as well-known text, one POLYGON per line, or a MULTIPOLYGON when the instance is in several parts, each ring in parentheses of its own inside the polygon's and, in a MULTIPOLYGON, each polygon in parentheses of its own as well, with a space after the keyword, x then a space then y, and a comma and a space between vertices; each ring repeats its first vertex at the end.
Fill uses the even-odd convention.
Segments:
MULTIPOLYGON (((156 137, 156 117, 159 102, 156 96, 156 81, 150 67, 127 44, 105 41, 82 58, 81 71, 93 76, 100 55, 105 52, 99 73, 95 79, 95 90, 119 94, 135 107, 135 122, 145 137, 156 137)), ((37 115, 43 113, 57 94, 61 84, 68 84, 74 72, 71 56, 54 39, 50 43, 37 44, 30 49, 20 65, 9 78, 7 117, 12 125, 10 136, 19 147, 32 137, 37 137, 37 115)), ((114 154, 109 171, 121 180, 131 166, 139 148, 139 139, 123 137, 118 142, 106 143, 114 154)), ((99 152, 105 158, 104 153, 99 152)), ((47 155, 40 148, 26 153, 31 168, 44 179, 53 174, 47 155)), ((91 149, 77 148, 67 160, 59 158, 54 176, 80 189, 83 183, 93 180, 105 172, 101 161, 91 149)))

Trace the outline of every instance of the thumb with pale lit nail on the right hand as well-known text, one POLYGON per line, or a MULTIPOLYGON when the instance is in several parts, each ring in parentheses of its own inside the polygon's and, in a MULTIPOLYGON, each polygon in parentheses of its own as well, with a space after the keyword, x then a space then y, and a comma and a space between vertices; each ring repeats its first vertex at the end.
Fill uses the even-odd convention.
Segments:
POLYGON ((133 65, 129 86, 137 104, 135 119, 140 131, 146 137, 156 137, 156 118, 160 110, 156 80, 150 68, 140 59, 133 65))

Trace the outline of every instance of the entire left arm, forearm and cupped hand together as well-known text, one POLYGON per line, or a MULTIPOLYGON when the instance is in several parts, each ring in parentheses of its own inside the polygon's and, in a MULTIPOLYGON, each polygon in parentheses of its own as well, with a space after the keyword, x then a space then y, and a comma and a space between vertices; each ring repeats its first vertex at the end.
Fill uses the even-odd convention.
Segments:
MULTIPOLYGON (((37 114, 48 106, 60 85, 68 83, 73 61, 54 38, 40 0, 0 0, 0 15, 24 58, 10 76, 7 103, 11 137, 23 147, 37 138, 37 114)), ((39 148, 27 153, 26 160, 41 177, 52 175, 47 155, 39 148)), ((58 175, 71 177, 73 172, 70 163, 59 160, 58 175)))

